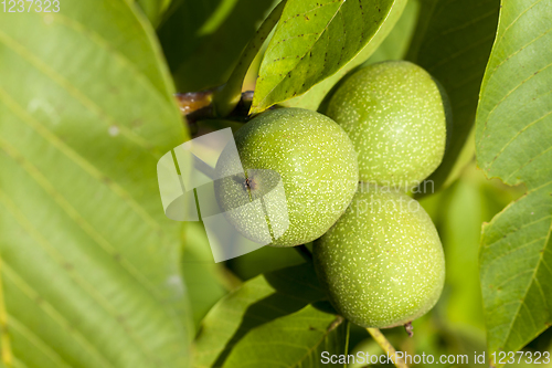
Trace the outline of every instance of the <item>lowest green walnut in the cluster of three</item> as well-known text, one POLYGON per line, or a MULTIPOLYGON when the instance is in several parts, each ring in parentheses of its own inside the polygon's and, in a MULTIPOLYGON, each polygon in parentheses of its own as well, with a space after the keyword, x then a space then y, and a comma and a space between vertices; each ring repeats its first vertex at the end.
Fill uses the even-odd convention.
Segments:
POLYGON ((443 290, 437 231, 420 203, 399 191, 361 183, 312 253, 335 308, 362 327, 405 325, 427 313, 443 290))

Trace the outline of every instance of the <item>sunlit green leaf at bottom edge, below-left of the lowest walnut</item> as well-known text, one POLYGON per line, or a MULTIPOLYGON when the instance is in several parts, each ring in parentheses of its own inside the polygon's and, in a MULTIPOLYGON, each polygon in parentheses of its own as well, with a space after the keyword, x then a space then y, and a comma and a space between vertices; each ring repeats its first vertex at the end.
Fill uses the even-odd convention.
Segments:
POLYGON ((234 346, 224 368, 328 367, 326 354, 347 355, 347 337, 342 317, 308 305, 251 330, 234 346))

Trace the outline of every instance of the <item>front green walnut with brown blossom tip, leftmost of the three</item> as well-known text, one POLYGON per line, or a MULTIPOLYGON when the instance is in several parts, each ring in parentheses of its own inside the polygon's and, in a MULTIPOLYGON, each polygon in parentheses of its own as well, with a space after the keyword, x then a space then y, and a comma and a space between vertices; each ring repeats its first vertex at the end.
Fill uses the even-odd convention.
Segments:
MULTIPOLYGON (((357 153, 329 117, 278 108, 255 117, 234 138, 245 176, 219 180, 217 201, 227 211, 261 199, 266 210, 265 219, 258 211, 229 215, 244 236, 256 241, 262 221, 267 221, 269 245, 305 244, 321 236, 347 210, 359 181, 357 153), (273 190, 278 180, 285 196, 273 190)), ((216 170, 223 172, 227 166, 222 159, 216 170)))

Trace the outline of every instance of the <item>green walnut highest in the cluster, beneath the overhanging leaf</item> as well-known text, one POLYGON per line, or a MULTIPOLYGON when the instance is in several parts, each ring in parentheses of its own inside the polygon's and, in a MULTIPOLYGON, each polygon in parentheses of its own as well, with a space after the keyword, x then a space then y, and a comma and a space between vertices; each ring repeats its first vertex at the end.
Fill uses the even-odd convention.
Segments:
POLYGON ((390 61, 361 69, 331 97, 327 115, 359 153, 360 180, 412 188, 443 160, 445 107, 422 67, 390 61))

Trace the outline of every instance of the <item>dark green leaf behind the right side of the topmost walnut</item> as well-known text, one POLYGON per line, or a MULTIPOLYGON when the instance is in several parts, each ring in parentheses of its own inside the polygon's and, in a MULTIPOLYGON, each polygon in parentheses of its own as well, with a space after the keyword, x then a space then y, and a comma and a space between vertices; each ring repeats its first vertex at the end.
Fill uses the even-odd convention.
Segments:
POLYGON ((444 87, 450 102, 447 149, 429 176, 435 188, 450 183, 464 166, 458 157, 473 129, 479 87, 495 40, 499 0, 422 0, 421 19, 406 59, 424 67, 444 87), (452 127, 450 127, 452 123, 452 127))

